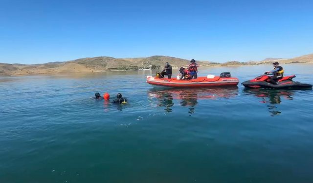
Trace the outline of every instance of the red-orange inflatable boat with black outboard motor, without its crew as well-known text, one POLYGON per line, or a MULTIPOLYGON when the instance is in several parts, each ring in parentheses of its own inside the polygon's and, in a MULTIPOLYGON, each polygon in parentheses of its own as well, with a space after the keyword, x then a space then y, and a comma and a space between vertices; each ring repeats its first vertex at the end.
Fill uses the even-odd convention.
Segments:
POLYGON ((179 79, 167 79, 157 78, 153 76, 147 76, 147 82, 149 84, 167 87, 213 87, 213 86, 236 86, 239 82, 237 78, 231 78, 230 73, 225 75, 222 73, 220 76, 208 75, 207 77, 198 77, 192 80, 179 80, 179 79))

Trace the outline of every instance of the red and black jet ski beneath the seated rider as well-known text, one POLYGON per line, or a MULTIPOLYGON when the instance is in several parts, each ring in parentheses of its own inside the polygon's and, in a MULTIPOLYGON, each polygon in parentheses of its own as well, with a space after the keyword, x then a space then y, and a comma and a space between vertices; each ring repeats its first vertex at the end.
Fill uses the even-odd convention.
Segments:
POLYGON ((286 88, 312 88, 311 84, 305 84, 298 81, 292 81, 295 78, 295 75, 285 76, 282 79, 277 81, 277 84, 272 84, 269 82, 271 77, 264 74, 258 76, 250 81, 245 81, 242 84, 248 88, 277 88, 277 89, 286 89, 286 88))

